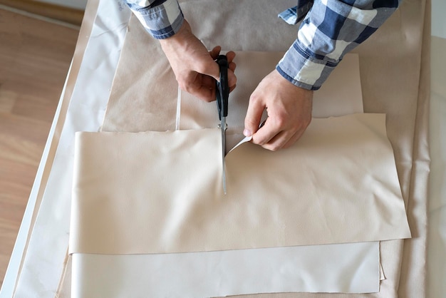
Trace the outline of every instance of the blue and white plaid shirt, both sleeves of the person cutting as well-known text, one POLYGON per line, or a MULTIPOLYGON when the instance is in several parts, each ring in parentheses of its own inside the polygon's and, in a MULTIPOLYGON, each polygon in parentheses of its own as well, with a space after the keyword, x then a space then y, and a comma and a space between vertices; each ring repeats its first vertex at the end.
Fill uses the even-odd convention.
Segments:
MULTIPOLYGON (((177 0, 125 1, 153 37, 167 38, 180 30, 184 17, 177 0)), ((277 71, 296 86, 318 90, 343 56, 373 34, 400 1, 298 0, 279 14, 288 24, 301 25, 277 71)))

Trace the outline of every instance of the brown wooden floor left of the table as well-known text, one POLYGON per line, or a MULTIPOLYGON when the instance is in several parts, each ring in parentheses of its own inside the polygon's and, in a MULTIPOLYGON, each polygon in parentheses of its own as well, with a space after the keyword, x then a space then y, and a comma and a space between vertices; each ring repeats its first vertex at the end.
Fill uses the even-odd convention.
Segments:
POLYGON ((0 9, 0 286, 77 38, 0 9))

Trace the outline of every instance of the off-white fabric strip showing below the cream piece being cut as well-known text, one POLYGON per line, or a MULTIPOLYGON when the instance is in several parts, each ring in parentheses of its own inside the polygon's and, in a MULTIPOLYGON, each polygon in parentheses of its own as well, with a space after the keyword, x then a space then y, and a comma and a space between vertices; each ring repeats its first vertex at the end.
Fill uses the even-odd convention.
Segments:
POLYGON ((378 247, 378 242, 358 242, 162 255, 73 254, 71 298, 378 292, 378 247))

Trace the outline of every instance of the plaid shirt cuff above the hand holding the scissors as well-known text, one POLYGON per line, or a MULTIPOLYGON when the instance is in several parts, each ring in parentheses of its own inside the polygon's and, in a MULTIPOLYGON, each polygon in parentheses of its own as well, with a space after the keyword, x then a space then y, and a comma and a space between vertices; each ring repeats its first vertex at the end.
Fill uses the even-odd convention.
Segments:
POLYGON ((184 16, 177 0, 125 0, 150 35, 157 39, 176 34, 184 16))

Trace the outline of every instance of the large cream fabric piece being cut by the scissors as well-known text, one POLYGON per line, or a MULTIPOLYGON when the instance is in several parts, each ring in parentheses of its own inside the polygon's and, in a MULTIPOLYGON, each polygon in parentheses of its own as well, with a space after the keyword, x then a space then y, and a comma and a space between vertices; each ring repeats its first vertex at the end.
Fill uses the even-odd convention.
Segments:
POLYGON ((226 157, 227 195, 220 144, 218 129, 78 133, 70 251, 199 252, 410 237, 384 115, 315 118, 299 142, 277 153, 240 145, 226 157))

